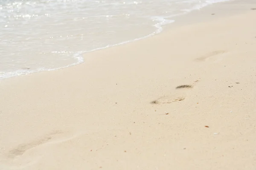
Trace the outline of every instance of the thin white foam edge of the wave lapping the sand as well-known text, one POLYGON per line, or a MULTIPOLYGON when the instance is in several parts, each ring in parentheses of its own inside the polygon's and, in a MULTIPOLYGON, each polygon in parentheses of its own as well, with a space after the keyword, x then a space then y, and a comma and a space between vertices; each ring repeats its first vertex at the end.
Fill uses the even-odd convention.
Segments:
MULTIPOLYGON (((78 54, 79 56, 73 56, 72 57, 72 58, 76 58, 77 61, 75 63, 65 65, 65 66, 60 67, 60 68, 49 68, 49 69, 38 68, 37 70, 30 70, 30 69, 27 69, 27 68, 25 68, 25 69, 21 68, 20 70, 6 72, 7 77, 0 78, 0 81, 3 80, 3 79, 9 79, 9 78, 17 77, 17 76, 25 76, 25 75, 28 75, 28 74, 35 74, 35 73, 42 72, 42 71, 55 71, 55 70, 60 70, 60 69, 65 69, 65 68, 73 67, 73 66, 76 66, 76 65, 80 65, 84 62, 84 57, 83 56, 88 54, 88 53, 91 53, 91 52, 94 52, 94 51, 99 51, 99 50, 104 50, 106 48, 113 48, 113 47, 116 47, 116 46, 119 46, 119 45, 124 45, 124 44, 127 44, 127 43, 133 43, 133 42, 136 42, 136 41, 140 41, 140 40, 143 40, 143 39, 147 39, 147 38, 156 36, 158 34, 162 34, 163 31, 167 31, 167 30, 175 28, 177 26, 182 26, 182 25, 188 24, 189 22, 188 22, 187 18, 194 18, 194 19, 198 18, 198 17, 201 18, 201 16, 198 16, 198 11, 200 11, 204 8, 207 8, 207 7, 212 6, 212 5, 217 5, 217 4, 220 4, 220 3, 229 4, 230 2, 233 2, 233 1, 235 1, 235 2, 238 1, 239 2, 240 0, 227 0, 227 1, 223 1, 223 2, 211 3, 211 4, 208 4, 204 7, 201 7, 199 9, 193 9, 191 11, 188 11, 184 14, 177 14, 177 16, 168 18, 170 23, 160 25, 160 27, 154 26, 156 28, 156 30, 154 32, 152 32, 151 34, 146 35, 144 37, 139 37, 139 38, 136 38, 134 40, 127 40, 127 41, 120 42, 120 43, 110 45, 110 46, 106 46, 106 47, 96 48, 96 49, 93 49, 93 50, 87 51, 87 52, 78 51, 78 52, 76 52, 76 54, 78 54), (189 15, 191 13, 192 13, 192 17, 190 17, 190 16, 188 17, 187 15, 189 15), (176 24, 176 22, 177 22, 177 24, 176 24), (172 25, 172 24, 174 24, 174 25, 172 25)), ((209 10, 209 9, 207 9, 207 10, 209 10)), ((223 14, 221 14, 221 15, 223 15, 223 14)), ((192 23, 198 23, 198 22, 202 22, 202 20, 192 21, 192 23)), ((0 72, 0 76, 1 76, 1 74, 3 74, 3 72, 0 72)))

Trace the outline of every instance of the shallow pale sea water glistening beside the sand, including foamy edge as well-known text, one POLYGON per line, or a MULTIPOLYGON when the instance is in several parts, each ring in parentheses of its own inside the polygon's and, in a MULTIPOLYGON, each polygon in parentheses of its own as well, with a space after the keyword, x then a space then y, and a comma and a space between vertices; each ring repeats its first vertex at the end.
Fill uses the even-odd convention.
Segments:
POLYGON ((84 61, 224 0, 0 0, 0 79, 84 61))

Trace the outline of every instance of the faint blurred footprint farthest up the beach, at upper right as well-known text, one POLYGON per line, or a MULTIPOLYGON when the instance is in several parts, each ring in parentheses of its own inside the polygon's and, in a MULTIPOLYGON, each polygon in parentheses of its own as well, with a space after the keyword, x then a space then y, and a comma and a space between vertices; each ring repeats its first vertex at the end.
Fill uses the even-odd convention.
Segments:
POLYGON ((219 51, 212 51, 209 54, 205 54, 202 57, 196 58, 195 61, 204 62, 204 61, 212 61, 212 62, 219 62, 223 59, 223 54, 227 53, 227 51, 219 50, 219 51))

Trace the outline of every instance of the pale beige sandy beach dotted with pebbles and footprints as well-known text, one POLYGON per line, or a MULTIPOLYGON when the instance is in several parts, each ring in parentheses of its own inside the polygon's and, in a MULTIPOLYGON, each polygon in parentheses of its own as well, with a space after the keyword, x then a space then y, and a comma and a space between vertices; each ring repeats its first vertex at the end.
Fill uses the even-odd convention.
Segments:
POLYGON ((1 80, 0 170, 255 170, 255 21, 254 0, 218 3, 1 80))

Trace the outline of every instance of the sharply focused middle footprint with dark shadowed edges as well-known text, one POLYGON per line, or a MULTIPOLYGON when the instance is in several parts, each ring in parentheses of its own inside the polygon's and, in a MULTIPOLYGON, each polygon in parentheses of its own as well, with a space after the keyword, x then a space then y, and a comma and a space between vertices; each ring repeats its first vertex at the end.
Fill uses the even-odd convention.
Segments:
POLYGON ((186 90, 190 90, 194 87, 194 85, 199 82, 200 79, 193 82, 192 85, 179 85, 176 87, 177 91, 174 93, 168 95, 168 96, 162 96, 156 100, 153 100, 150 102, 152 105, 157 104, 169 104, 172 102, 180 102, 186 99, 186 90))

